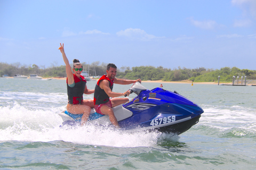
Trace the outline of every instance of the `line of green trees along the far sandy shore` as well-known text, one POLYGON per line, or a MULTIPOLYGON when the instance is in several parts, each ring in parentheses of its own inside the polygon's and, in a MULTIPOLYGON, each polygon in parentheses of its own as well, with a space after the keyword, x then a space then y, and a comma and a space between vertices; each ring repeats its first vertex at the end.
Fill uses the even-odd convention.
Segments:
MULTIPOLYGON (((94 62, 92 64, 83 64, 83 69, 89 71, 91 76, 106 74, 107 63, 94 62)), ((70 66, 72 66, 70 64, 70 66)), ((66 77, 66 66, 50 66, 45 68, 39 67, 36 64, 25 66, 20 63, 7 64, 0 62, 0 75, 8 74, 13 77, 15 74, 29 75, 38 74, 41 77, 66 77)), ((238 69, 237 67, 223 67, 220 70, 205 69, 199 67, 196 69, 187 69, 186 67, 178 67, 178 69, 165 69, 162 66, 136 66, 126 67, 122 66, 117 69, 117 78, 121 79, 138 79, 141 80, 163 80, 163 81, 182 81, 190 80, 194 82, 214 82, 218 81, 220 76, 221 82, 231 82, 233 76, 245 76, 249 80, 256 79, 256 70, 238 69)))

